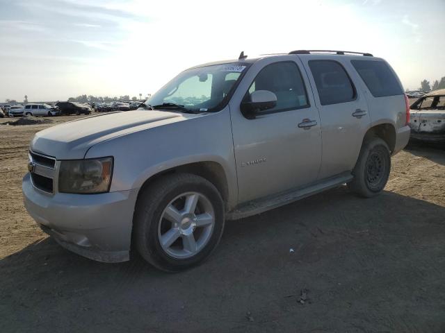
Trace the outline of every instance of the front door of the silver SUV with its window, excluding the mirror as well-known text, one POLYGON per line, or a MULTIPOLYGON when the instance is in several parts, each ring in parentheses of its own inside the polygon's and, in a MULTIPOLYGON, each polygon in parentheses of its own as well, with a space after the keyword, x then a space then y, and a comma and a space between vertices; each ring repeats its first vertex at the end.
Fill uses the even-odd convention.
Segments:
POLYGON ((230 103, 239 203, 302 187, 318 176, 320 119, 305 71, 295 60, 259 60, 230 103), (273 92, 277 105, 247 119, 241 101, 257 90, 273 92))

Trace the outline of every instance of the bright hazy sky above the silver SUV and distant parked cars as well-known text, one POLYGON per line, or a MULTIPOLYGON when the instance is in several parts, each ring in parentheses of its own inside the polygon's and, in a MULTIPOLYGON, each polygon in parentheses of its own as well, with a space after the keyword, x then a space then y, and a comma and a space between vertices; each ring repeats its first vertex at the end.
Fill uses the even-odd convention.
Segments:
POLYGON ((371 52, 410 89, 445 76, 445 0, 0 0, 0 12, 0 101, 145 95, 241 51, 371 52))

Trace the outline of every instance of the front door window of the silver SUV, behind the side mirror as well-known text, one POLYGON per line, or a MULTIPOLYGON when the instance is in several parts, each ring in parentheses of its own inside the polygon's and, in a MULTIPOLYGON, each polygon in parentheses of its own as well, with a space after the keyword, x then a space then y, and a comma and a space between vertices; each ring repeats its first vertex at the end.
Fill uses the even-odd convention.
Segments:
POLYGON ((261 69, 250 85, 245 99, 250 98, 250 94, 257 90, 268 90, 277 95, 277 105, 265 113, 296 110, 309 106, 300 69, 290 61, 275 62, 261 69))

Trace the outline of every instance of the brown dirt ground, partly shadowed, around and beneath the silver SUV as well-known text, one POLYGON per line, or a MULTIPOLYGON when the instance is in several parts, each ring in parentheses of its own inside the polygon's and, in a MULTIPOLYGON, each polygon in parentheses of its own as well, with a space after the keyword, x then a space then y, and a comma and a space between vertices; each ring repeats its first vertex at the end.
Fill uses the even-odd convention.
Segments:
POLYGON ((31 137, 75 118, 0 125, 0 332, 445 332, 443 148, 408 146, 376 198, 230 221, 207 262, 165 274, 70 253, 24 210, 31 137))

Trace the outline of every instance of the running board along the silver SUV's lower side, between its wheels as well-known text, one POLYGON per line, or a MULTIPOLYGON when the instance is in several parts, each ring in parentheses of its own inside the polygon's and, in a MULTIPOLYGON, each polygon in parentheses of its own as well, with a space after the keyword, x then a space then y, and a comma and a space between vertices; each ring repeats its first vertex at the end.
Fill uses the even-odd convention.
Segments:
POLYGON ((296 200, 302 198, 307 198, 314 194, 318 194, 327 189, 333 189, 339 187, 346 182, 353 180, 353 175, 348 173, 341 173, 339 176, 332 178, 327 178, 321 182, 316 182, 313 185, 307 187, 300 187, 298 189, 291 189, 289 191, 284 191, 280 194, 275 194, 273 196, 266 196, 265 198, 259 198, 252 200, 248 203, 242 204, 236 207, 232 212, 226 214, 227 220, 237 220, 244 219, 245 217, 257 215, 268 210, 273 210, 277 207, 293 203, 296 200))

